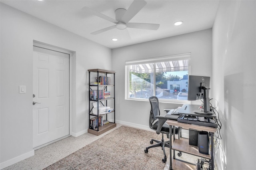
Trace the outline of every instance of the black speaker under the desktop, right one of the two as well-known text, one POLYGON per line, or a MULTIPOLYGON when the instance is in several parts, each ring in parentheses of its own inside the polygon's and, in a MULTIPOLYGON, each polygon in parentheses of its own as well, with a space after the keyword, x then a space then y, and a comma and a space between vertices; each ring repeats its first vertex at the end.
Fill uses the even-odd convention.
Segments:
POLYGON ((201 154, 210 154, 209 133, 206 131, 200 131, 198 133, 198 151, 201 154))

